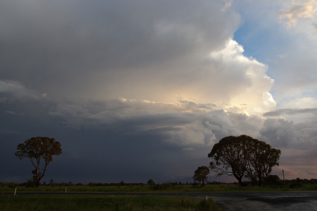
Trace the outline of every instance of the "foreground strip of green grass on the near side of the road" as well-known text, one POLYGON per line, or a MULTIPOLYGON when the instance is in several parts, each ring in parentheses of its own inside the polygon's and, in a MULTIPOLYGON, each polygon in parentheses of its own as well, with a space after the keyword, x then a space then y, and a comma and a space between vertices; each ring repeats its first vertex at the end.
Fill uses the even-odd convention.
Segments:
POLYGON ((159 196, 1 195, 2 211, 220 211, 212 199, 159 196))

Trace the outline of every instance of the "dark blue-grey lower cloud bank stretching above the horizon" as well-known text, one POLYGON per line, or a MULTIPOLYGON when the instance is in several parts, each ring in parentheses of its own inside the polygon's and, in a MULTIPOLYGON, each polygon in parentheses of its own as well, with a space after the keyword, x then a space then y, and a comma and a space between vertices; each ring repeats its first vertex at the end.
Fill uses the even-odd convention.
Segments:
MULTIPOLYGON (((46 98, 29 99, 33 107, 26 100, 20 102, 20 107, 12 107, 13 102, 2 104, 3 111, 11 108, 14 113, 25 113, 2 114, 0 134, 4 140, 14 140, 5 142, 5 148, 14 149, 35 135, 54 137, 62 143, 63 154, 55 158, 48 175, 60 182, 146 182, 150 178, 191 181, 197 163, 208 165, 207 154, 224 136, 253 133, 284 151, 312 147, 316 137, 316 127, 309 123, 294 125, 268 119, 263 125, 263 120, 255 115, 227 113, 190 101, 179 101, 177 105, 123 99, 56 104, 46 98), (200 135, 192 136, 193 133, 200 135)), ((4 156, 13 158, 13 151, 3 152, 4 156)), ((307 156, 311 155, 295 158, 301 161, 307 156)), ((29 165, 26 161, 14 162, 14 166, 21 164, 29 165)), ((6 178, 14 179, 18 172, 9 169, 11 173, 6 178)), ((29 172, 26 167, 21 170, 29 172)), ((24 179, 31 177, 27 175, 24 179)))

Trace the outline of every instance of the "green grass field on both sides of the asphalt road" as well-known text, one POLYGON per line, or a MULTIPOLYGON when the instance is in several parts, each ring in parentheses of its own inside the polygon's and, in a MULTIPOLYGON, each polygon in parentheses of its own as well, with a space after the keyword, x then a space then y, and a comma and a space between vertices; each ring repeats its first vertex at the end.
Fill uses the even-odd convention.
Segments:
MULTIPOLYGON (((162 183, 155 188, 148 185, 123 186, 40 186, 28 188, 16 186, 16 192, 65 192, 68 193, 186 193, 186 192, 253 192, 253 191, 317 191, 317 185, 300 187, 264 186, 241 187, 234 184, 171 185, 162 183)), ((2 185, 1 192, 14 193, 12 185, 2 185)), ((163 196, 96 196, 96 195, 0 195, 1 211, 72 210, 72 211, 220 211, 212 199, 192 199, 163 196)))

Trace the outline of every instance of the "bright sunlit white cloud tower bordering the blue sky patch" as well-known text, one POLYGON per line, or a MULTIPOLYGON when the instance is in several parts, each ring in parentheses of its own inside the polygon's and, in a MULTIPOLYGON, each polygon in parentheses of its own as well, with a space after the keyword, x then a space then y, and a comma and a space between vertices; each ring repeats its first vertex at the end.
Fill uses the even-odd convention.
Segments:
POLYGON ((248 114, 274 109, 276 102, 269 93, 274 80, 266 75, 267 67, 254 58, 243 56, 242 53, 243 47, 230 40, 226 48, 210 54, 215 63, 220 63, 219 69, 223 73, 223 80, 220 81, 225 82, 226 88, 230 88, 222 88, 227 91, 224 95, 230 97, 224 103, 238 107, 246 104, 248 106, 245 112, 248 114))

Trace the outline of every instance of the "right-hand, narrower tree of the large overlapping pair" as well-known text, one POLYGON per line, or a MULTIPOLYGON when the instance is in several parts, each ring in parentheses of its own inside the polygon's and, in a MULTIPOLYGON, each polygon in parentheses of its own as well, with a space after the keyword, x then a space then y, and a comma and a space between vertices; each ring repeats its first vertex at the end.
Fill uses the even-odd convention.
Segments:
POLYGON ((259 186, 262 186, 272 172, 273 166, 279 165, 280 155, 280 149, 272 148, 271 145, 255 139, 245 177, 253 184, 257 182, 259 186))

